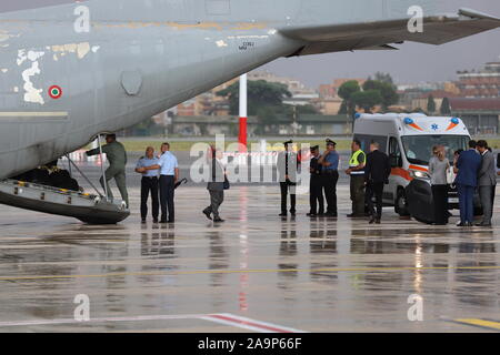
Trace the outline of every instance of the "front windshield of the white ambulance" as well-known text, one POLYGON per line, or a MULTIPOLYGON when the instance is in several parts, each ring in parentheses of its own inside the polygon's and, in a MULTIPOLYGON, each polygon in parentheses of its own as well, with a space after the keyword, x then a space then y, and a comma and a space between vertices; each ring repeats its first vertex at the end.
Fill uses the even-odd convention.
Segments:
POLYGON ((411 164, 428 165, 434 145, 444 145, 449 161, 453 162, 453 153, 464 150, 470 138, 467 135, 407 135, 402 138, 404 153, 411 164))

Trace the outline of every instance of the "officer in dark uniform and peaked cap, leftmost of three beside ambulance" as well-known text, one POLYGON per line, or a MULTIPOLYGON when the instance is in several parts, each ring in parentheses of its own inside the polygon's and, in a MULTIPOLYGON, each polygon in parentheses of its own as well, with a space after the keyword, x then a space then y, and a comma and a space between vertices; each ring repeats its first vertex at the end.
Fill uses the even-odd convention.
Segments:
POLYGON ((299 160, 293 152, 293 141, 287 141, 284 144, 284 152, 278 155, 278 175, 281 190, 281 214, 280 216, 287 216, 287 200, 290 193, 290 214, 296 215, 296 185, 297 185, 297 170, 299 168, 299 160))

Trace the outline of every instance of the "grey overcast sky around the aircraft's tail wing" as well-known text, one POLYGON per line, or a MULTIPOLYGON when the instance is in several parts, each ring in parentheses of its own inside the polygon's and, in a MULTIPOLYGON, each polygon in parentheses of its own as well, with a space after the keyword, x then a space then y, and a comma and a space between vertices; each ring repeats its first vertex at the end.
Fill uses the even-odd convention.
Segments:
MULTIPOLYGON (((440 0, 441 1, 441 0, 440 0)), ((499 0, 444 0, 442 10, 469 8, 500 17, 499 0)), ((500 29, 443 45, 404 43, 399 51, 359 51, 281 59, 264 67, 316 88, 333 78, 389 72, 398 83, 457 79, 457 70, 479 69, 500 58, 500 29)))

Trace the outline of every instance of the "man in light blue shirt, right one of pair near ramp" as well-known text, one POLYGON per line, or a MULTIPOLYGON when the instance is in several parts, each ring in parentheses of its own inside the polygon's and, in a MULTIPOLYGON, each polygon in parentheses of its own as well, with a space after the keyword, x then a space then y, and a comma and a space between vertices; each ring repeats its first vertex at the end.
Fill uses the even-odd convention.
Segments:
POLYGON ((179 163, 176 155, 170 152, 169 143, 163 143, 161 151, 164 153, 160 156, 158 164, 142 168, 141 171, 160 170, 160 223, 174 223, 173 197, 176 183, 179 181, 179 163))

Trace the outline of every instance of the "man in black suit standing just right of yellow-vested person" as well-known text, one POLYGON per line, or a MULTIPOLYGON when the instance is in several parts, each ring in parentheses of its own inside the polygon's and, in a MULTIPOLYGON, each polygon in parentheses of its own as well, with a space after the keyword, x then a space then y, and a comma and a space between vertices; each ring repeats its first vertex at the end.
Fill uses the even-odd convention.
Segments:
POLYGON ((364 184, 367 186, 368 209, 371 214, 370 224, 380 224, 382 219, 383 185, 389 183, 389 175, 391 174, 389 156, 379 151, 379 143, 371 143, 371 153, 367 155, 367 164, 364 165, 364 184), (373 205, 373 195, 376 197, 377 212, 373 205))

